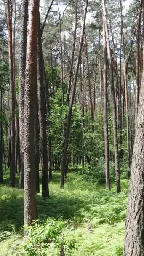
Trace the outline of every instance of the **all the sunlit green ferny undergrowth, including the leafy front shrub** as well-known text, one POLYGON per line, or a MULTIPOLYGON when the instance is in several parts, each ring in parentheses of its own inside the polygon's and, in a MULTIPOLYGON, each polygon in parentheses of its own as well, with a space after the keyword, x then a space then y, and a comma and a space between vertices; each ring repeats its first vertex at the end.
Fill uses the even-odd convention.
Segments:
MULTIPOLYGON (((102 160, 101 160, 102 161, 102 160)), ((23 238, 23 189, 0 184, 0 253, 3 256, 60 255, 122 256, 128 181, 117 195, 104 185, 88 181, 86 174, 70 172, 65 189, 60 173, 53 172, 48 200, 37 195, 39 220, 23 238), (90 231, 88 230, 90 225, 90 231), (25 249, 24 249, 25 247, 25 249), (31 253, 31 254, 30 254, 31 253), (41 254, 40 254, 41 253, 41 254)), ((18 183, 17 183, 18 186, 18 183)))

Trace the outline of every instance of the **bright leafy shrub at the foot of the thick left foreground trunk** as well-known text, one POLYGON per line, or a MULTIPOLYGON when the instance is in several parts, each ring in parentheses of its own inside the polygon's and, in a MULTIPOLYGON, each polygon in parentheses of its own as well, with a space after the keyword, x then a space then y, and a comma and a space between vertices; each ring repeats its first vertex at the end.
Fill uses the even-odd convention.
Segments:
POLYGON ((43 224, 34 221, 30 227, 25 226, 28 236, 24 242, 24 250, 27 256, 46 256, 47 250, 53 243, 57 249, 57 255, 62 251, 67 255, 76 248, 75 237, 65 237, 66 222, 62 220, 47 219, 43 224))

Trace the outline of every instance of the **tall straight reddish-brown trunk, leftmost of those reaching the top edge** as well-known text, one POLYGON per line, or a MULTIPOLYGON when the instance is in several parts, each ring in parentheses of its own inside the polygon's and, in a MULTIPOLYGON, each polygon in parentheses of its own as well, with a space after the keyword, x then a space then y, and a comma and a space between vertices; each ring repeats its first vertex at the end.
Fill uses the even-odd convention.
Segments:
POLYGON ((12 22, 10 12, 10 0, 7 0, 7 24, 8 24, 8 53, 10 71, 10 117, 11 117, 11 160, 10 160, 10 185, 15 187, 15 86, 13 82, 13 42, 12 22))

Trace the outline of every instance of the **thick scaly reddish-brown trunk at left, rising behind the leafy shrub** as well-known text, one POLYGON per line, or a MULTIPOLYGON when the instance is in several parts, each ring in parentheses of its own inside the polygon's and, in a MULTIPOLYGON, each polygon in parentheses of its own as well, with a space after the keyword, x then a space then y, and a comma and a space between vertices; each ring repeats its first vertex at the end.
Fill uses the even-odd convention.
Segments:
MULTIPOLYGON (((37 33, 39 0, 30 0, 29 34, 24 89, 24 224, 37 217, 34 147, 34 111, 37 83, 37 33)), ((25 229, 25 234, 27 233, 25 229)))

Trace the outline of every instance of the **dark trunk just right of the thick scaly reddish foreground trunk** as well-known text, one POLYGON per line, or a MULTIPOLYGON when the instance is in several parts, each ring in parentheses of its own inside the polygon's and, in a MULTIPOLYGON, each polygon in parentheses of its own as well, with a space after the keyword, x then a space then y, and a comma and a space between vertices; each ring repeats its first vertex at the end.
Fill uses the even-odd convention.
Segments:
POLYGON ((38 85, 38 103, 39 103, 39 122, 40 122, 40 148, 41 148, 41 168, 42 168, 42 196, 49 197, 48 189, 48 151, 45 120, 45 93, 43 81, 43 52, 40 35, 40 14, 38 21, 37 37, 37 85, 38 85))

